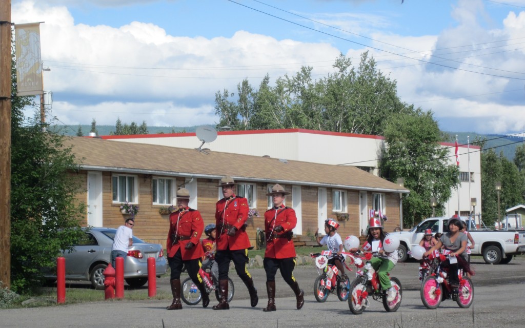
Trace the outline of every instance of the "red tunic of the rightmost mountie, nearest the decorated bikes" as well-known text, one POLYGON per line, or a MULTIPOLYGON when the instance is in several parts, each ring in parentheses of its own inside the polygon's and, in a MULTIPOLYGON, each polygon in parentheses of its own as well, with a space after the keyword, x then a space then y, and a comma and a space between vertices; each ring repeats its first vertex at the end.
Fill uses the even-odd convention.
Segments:
POLYGON ((291 207, 281 205, 277 208, 270 208, 264 214, 264 227, 266 232, 266 252, 264 257, 272 259, 286 259, 295 257, 295 247, 291 239, 292 229, 297 225, 295 210, 291 207), (282 227, 281 232, 273 229, 277 226, 282 227))

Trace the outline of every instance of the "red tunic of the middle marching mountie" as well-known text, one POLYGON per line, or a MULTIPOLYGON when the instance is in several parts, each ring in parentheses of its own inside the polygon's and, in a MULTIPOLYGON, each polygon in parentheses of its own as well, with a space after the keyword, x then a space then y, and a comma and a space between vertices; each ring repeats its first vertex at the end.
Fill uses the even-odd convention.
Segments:
POLYGON ((215 205, 215 224, 217 226, 217 250, 246 249, 250 247, 250 239, 243 226, 248 219, 248 200, 244 197, 233 195, 228 199, 220 199, 215 205), (228 236, 227 226, 235 226, 237 232, 235 236, 228 236))

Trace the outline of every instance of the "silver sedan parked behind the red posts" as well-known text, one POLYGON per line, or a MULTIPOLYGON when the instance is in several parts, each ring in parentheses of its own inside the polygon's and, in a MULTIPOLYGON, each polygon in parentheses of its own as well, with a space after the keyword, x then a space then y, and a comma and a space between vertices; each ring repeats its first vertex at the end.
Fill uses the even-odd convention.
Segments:
MULTIPOLYGON (((86 235, 74 246, 71 252, 65 252, 66 280, 91 281, 96 289, 104 289, 102 274, 110 262, 111 246, 117 229, 89 228, 86 235)), ((133 237, 133 246, 128 249, 124 262, 124 279, 130 287, 141 287, 148 282, 148 258, 155 258, 156 276, 166 273, 167 261, 160 244, 150 244, 133 237)), ((56 273, 45 273, 48 279, 56 279, 56 273)))

